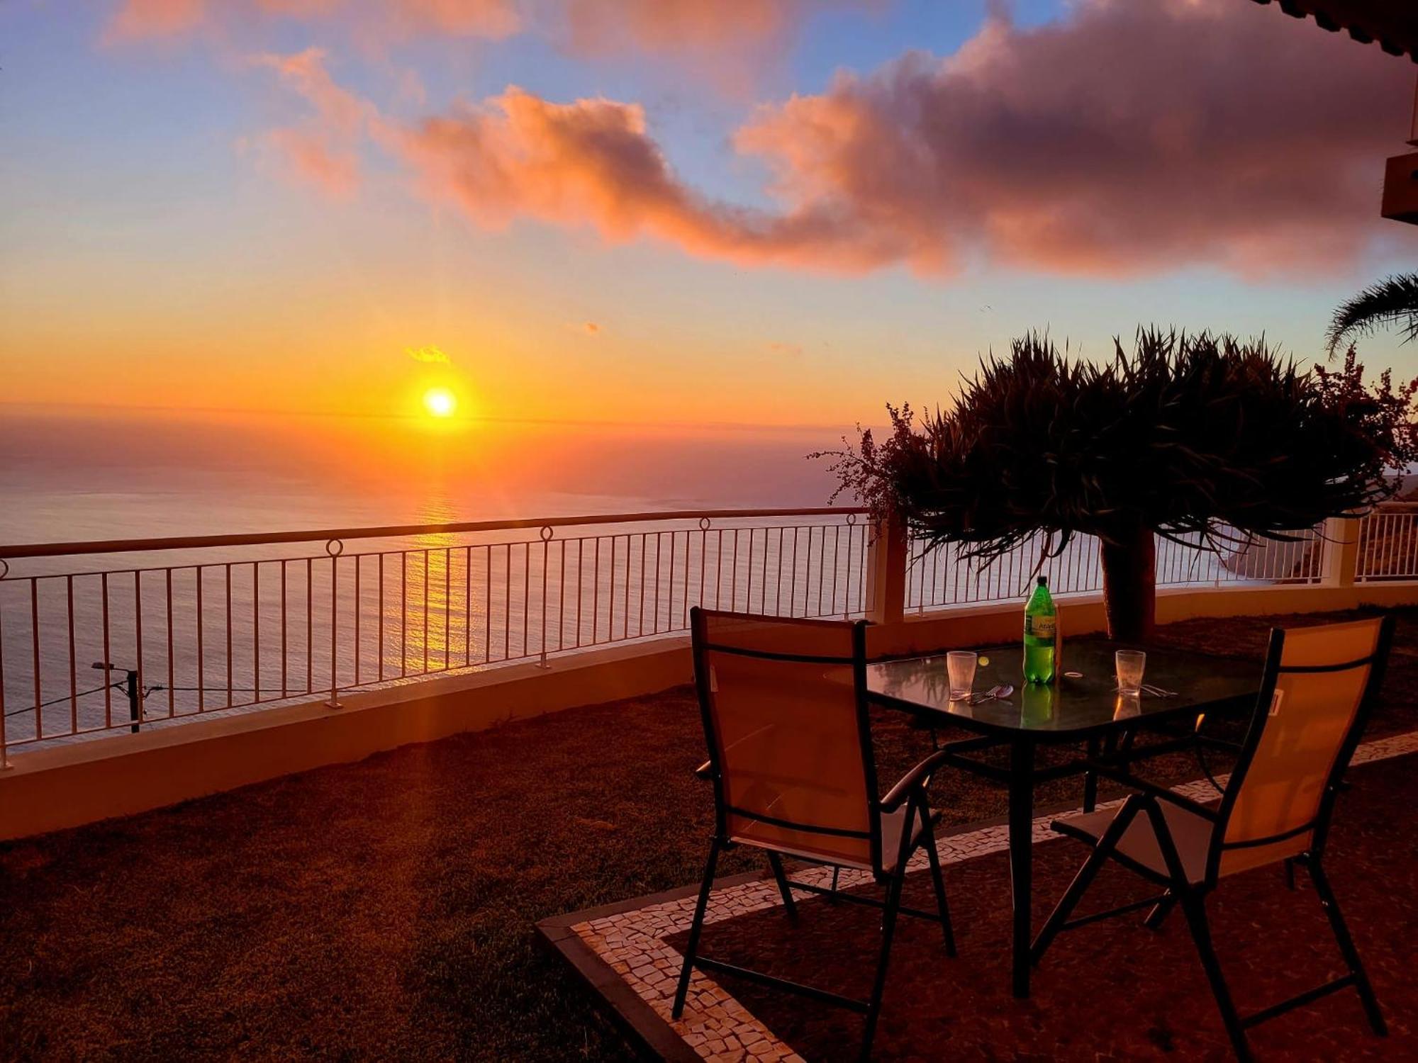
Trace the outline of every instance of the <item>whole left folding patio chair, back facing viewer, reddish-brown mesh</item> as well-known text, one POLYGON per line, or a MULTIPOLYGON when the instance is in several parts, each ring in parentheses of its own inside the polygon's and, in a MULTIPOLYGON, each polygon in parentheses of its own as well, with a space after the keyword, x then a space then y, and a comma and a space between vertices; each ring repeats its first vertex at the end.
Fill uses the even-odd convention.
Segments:
POLYGON ((940 814, 926 801, 930 774, 944 763, 947 750, 906 772, 886 797, 878 795, 862 621, 777 619, 696 608, 691 624, 695 683, 709 747, 709 763, 700 774, 713 781, 715 832, 672 1013, 676 1019, 683 1013, 693 968, 727 972, 865 1015, 865 1059, 876 1032, 898 913, 940 923, 946 952, 956 952, 936 855, 933 828, 940 814), (883 910, 869 999, 699 955, 719 853, 737 845, 767 853, 790 918, 797 918, 794 889, 883 910), (900 903, 906 862, 917 848, 926 850, 930 863, 936 913, 900 903), (793 882, 783 870, 784 856, 834 870, 871 872, 886 887, 885 900, 793 882))

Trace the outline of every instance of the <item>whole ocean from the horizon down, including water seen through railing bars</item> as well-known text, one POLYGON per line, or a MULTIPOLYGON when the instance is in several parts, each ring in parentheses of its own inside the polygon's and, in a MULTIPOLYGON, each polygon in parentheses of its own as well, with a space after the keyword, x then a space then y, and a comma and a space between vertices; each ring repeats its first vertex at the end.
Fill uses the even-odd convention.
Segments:
MULTIPOLYGON (((807 455, 841 437, 9 410, 0 544, 822 506, 832 476, 807 455)), ((13 560, 0 580, 4 736, 14 751, 122 729, 129 670, 142 723, 163 726, 328 690, 332 675, 406 682, 649 638, 682 629, 700 601, 859 609, 864 526, 767 523, 352 537, 339 561, 323 539, 13 560), (102 660, 116 669, 91 668, 102 660)))

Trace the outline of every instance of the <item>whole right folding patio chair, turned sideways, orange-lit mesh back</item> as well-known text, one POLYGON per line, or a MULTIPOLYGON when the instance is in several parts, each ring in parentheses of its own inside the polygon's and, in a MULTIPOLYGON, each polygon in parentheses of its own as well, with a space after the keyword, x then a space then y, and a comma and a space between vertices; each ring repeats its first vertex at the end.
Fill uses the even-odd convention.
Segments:
POLYGON ((1177 906, 1187 918, 1239 1059, 1251 1057, 1248 1028, 1347 986, 1358 992, 1374 1032, 1385 1035, 1384 1016, 1324 876, 1322 857, 1341 777, 1383 682, 1392 631, 1392 617, 1272 631, 1255 714, 1219 802, 1197 804, 1099 764, 1099 774, 1140 792, 1116 811, 1054 822, 1055 831, 1088 842, 1093 852, 1035 938, 1034 962, 1061 930, 1147 906, 1151 911, 1146 924, 1157 928, 1177 906), (1164 893, 1069 920, 1107 859, 1166 887, 1164 893), (1349 974, 1242 1016, 1217 962, 1205 897, 1219 879, 1271 863, 1283 863, 1288 876, 1293 874, 1296 863, 1309 872, 1349 974))

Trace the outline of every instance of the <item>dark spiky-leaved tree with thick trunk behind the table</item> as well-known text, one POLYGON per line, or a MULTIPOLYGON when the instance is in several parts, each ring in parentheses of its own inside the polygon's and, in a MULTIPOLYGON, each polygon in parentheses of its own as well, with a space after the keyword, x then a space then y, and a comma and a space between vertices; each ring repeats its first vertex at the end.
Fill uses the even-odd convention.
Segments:
POLYGON ((839 493, 927 547, 988 563, 1039 534, 1045 557, 1098 536, 1109 632, 1137 639, 1154 533, 1212 550, 1288 539, 1388 493, 1385 469, 1418 456, 1418 381, 1363 373, 1353 350, 1341 370, 1302 371, 1263 339, 1159 329, 1092 363, 1031 333, 981 360, 951 410, 917 422, 888 407, 888 438, 830 456, 839 493))

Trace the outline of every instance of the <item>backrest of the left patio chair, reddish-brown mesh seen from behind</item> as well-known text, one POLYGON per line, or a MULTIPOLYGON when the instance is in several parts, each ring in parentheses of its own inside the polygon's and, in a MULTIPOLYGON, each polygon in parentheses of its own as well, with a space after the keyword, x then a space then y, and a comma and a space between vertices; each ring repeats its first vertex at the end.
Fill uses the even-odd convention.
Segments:
POLYGON ((864 621, 693 609, 720 838, 881 869, 864 621))

